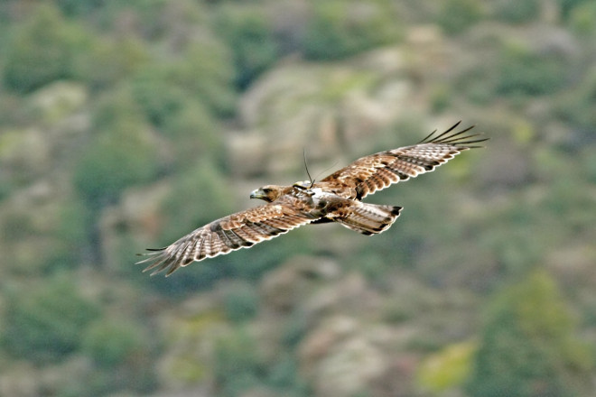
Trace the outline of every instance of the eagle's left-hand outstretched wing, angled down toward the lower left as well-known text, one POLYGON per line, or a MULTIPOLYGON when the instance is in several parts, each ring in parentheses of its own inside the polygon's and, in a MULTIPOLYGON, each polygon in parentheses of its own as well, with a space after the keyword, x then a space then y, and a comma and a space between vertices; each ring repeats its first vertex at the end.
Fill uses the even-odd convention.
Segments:
POLYGON ((193 261, 248 248, 313 220, 284 205, 250 208, 202 226, 172 245, 149 249, 151 253, 142 254, 149 257, 137 263, 149 263, 144 272, 154 270, 151 275, 167 269, 166 276, 169 276, 193 261))

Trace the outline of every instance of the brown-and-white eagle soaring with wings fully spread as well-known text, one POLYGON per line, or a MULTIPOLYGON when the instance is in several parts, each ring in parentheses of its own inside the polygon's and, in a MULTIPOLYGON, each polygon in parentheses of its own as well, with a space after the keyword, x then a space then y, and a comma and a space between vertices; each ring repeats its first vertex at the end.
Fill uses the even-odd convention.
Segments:
POLYGON ((250 193, 266 202, 214 220, 163 248, 149 248, 144 272, 166 271, 166 276, 199 262, 240 248, 248 248, 303 225, 336 222, 363 235, 386 231, 402 210, 398 206, 362 201, 393 183, 433 171, 443 162, 489 138, 469 134, 474 125, 457 131, 456 123, 442 134, 434 130, 420 143, 377 152, 352 162, 320 180, 291 186, 265 185, 250 193))

